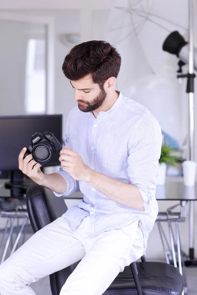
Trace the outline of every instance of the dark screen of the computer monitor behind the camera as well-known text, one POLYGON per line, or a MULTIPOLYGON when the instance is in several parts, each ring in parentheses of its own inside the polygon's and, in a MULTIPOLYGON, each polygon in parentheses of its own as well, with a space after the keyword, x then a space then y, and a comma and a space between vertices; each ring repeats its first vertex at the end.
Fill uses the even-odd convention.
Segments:
MULTIPOLYGON (((62 115, 0 117, 0 171, 18 170, 18 155, 36 132, 52 132, 62 140, 62 115)), ((43 166, 59 166, 59 154, 43 166)))

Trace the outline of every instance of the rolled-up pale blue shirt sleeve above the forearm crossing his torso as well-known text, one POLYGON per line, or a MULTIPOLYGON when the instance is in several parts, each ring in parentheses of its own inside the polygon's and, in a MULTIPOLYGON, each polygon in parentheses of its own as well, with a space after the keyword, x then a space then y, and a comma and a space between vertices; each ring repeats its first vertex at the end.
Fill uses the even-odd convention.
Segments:
POLYGON ((137 124, 128 149, 128 176, 141 193, 144 207, 155 198, 159 176, 159 159, 162 148, 162 131, 156 118, 145 117, 137 124))

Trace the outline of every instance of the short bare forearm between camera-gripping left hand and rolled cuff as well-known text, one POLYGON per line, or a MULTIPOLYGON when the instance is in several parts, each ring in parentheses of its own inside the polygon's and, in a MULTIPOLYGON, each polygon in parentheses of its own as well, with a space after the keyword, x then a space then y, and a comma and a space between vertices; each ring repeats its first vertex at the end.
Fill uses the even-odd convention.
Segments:
POLYGON ((43 183, 41 183, 41 185, 58 194, 64 194, 67 190, 66 180, 58 173, 45 174, 43 183))

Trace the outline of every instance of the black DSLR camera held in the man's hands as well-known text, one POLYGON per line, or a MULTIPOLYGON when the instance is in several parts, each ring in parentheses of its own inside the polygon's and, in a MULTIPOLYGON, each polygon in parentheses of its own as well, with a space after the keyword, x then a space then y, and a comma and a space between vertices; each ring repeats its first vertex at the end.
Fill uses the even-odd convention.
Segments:
POLYGON ((51 132, 36 132, 32 136, 32 144, 27 148, 24 159, 27 155, 32 154, 34 161, 45 164, 61 149, 62 145, 51 132))

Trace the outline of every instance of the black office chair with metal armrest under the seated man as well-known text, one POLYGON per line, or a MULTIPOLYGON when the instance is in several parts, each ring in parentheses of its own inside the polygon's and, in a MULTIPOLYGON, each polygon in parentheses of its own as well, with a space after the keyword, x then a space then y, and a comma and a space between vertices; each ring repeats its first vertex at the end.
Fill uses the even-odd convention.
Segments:
MULTIPOLYGON (((26 193, 27 209, 34 233, 62 216, 67 210, 62 197, 32 184, 26 193)), ((59 295, 68 276, 79 262, 50 275, 51 292, 59 295)), ((181 295, 182 276, 174 266, 159 262, 132 263, 120 272, 104 295, 181 295)))

